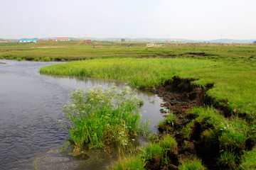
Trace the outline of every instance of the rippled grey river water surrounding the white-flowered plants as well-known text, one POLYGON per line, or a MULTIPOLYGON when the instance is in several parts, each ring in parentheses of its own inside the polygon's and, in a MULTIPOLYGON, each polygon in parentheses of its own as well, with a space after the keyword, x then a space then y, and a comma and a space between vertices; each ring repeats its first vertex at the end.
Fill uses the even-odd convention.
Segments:
MULTIPOLYGON (((56 62, 1 62, 6 64, 0 64, 0 169, 35 169, 33 162, 38 157, 47 157, 53 150, 54 157, 75 162, 70 155, 58 152, 68 140, 67 130, 58 123, 58 120, 65 119, 62 108, 69 101, 68 94, 77 88, 91 89, 99 85, 108 88, 112 83, 120 89, 127 86, 123 81, 53 77, 38 73, 40 67, 56 62)), ((161 99, 148 91, 137 91, 137 96, 144 101, 142 119, 151 120, 149 129, 157 133, 156 125, 162 119, 159 111, 161 99)), ((97 156, 91 156, 91 159, 97 159, 97 156)), ((42 167, 82 169, 78 168, 82 167, 79 162, 70 167, 65 161, 58 166, 50 161, 53 159, 45 159, 42 167)), ((100 164, 97 166, 90 166, 90 162, 86 164, 91 167, 89 169, 104 169, 109 161, 105 164, 95 162, 100 164)))

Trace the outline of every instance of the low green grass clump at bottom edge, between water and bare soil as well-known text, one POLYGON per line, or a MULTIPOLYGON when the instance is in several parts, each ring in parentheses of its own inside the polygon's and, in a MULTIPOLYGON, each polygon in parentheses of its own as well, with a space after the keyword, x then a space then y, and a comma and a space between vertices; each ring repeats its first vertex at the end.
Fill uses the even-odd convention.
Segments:
POLYGON ((178 164, 178 144, 171 135, 149 142, 139 151, 112 163, 111 169, 161 169, 168 164, 178 164))

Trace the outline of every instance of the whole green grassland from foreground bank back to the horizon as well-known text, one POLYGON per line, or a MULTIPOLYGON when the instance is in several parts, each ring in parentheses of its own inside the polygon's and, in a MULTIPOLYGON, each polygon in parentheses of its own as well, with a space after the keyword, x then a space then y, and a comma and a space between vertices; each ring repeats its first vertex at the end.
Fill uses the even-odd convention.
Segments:
MULTIPOLYGON (((144 89, 162 86, 174 76, 196 79, 191 86, 202 89, 213 84, 201 106, 186 115, 169 113, 169 118, 159 123, 166 125, 166 131, 152 137, 138 154, 120 158, 112 169, 256 168, 255 46, 126 47, 99 43, 93 49, 90 44, 65 43, 1 46, 0 57, 85 60, 43 67, 40 72, 121 79, 144 89), (36 48, 45 46, 48 48, 36 48)), ((189 95, 187 100, 191 100, 189 95)))

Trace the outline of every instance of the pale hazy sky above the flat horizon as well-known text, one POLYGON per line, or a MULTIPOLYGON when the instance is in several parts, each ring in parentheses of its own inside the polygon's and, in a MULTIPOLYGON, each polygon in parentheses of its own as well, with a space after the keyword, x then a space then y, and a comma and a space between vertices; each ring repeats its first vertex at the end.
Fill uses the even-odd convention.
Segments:
POLYGON ((256 39, 256 0, 0 0, 0 38, 256 39))

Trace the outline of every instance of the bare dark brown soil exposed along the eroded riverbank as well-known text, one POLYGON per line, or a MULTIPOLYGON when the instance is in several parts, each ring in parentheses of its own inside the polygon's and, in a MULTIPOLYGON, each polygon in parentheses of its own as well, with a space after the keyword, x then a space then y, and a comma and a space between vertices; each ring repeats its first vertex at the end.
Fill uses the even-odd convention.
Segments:
MULTIPOLYGON (((205 105, 206 91, 213 87, 213 84, 207 84, 204 88, 198 85, 191 85, 191 81, 195 80, 196 79, 173 77, 173 79, 166 81, 164 84, 156 86, 155 89, 151 89, 154 94, 164 99, 162 106, 176 115, 174 125, 166 124, 159 127, 159 138, 167 133, 174 136, 178 142, 178 152, 176 155, 169 157, 171 161, 164 166, 154 164, 154 160, 149 160, 149 163, 146 164, 146 169, 160 169, 160 167, 161 169, 177 169, 182 159, 195 155, 202 158, 203 164, 205 164, 208 169, 215 169, 214 164, 216 164, 216 162, 213 162, 213 157, 218 157, 219 149, 213 146, 210 151, 206 151, 206 147, 201 146, 205 144, 201 142, 200 137, 203 130, 212 127, 208 127, 208 125, 205 124, 201 125, 201 123, 196 124, 193 128, 191 139, 188 140, 186 149, 184 149, 185 139, 181 130, 187 123, 196 118, 196 115, 188 114, 188 111, 191 111, 194 107, 205 105), (206 159, 203 159, 203 157, 206 159), (212 158, 210 159, 209 157, 212 158)), ((161 112, 166 113, 164 110, 161 110, 161 112)))

